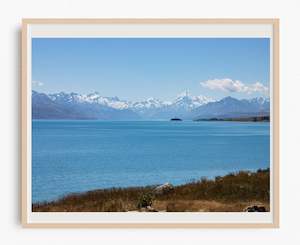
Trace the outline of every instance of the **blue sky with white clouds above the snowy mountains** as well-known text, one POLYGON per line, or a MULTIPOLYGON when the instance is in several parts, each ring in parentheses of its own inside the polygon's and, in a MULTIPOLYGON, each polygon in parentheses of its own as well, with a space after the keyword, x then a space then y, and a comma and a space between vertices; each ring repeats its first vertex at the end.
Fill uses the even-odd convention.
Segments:
POLYGON ((32 89, 172 101, 268 96, 268 38, 33 38, 32 89))

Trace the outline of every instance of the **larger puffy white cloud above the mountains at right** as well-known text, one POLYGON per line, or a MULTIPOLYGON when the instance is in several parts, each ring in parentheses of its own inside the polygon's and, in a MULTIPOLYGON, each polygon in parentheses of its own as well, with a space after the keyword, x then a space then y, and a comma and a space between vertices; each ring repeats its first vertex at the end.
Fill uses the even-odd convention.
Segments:
POLYGON ((200 82, 201 86, 204 88, 209 88, 212 90, 221 90, 224 92, 238 92, 251 94, 254 92, 268 93, 269 89, 260 82, 255 82, 253 84, 246 85, 239 80, 232 80, 229 78, 224 79, 213 79, 200 82))

